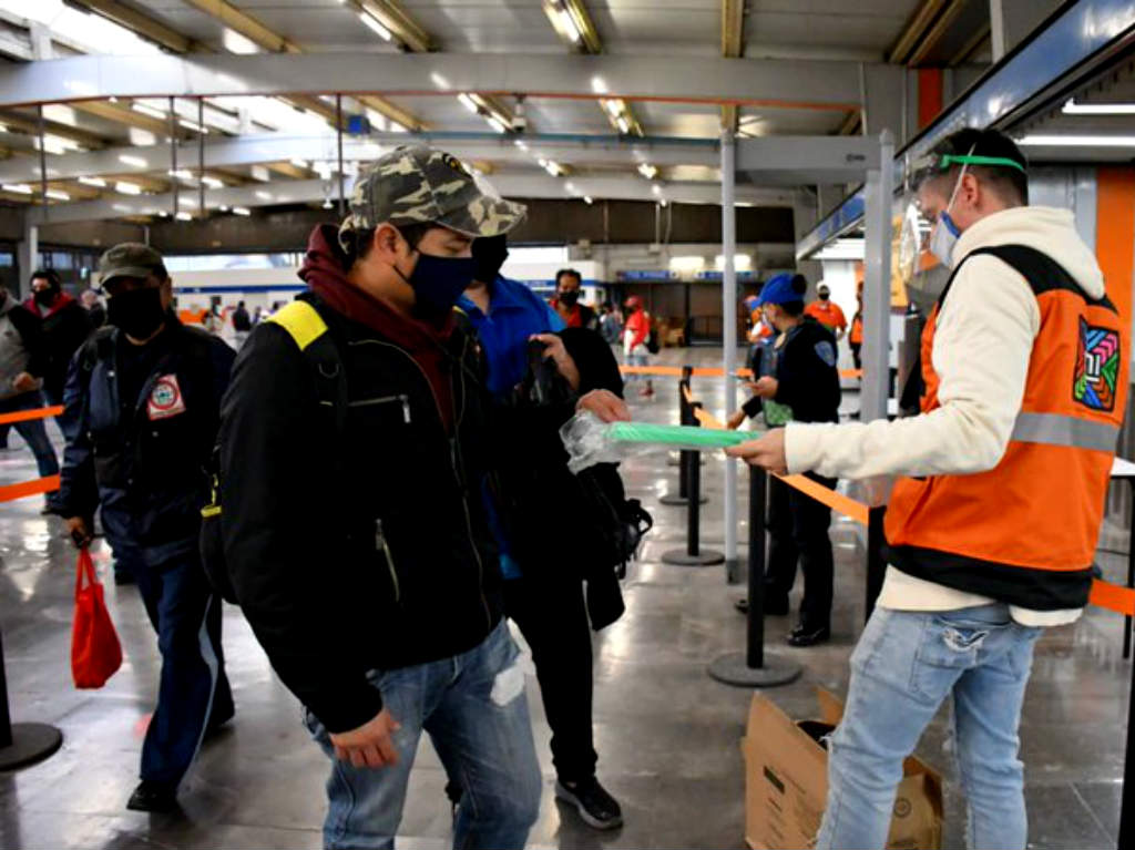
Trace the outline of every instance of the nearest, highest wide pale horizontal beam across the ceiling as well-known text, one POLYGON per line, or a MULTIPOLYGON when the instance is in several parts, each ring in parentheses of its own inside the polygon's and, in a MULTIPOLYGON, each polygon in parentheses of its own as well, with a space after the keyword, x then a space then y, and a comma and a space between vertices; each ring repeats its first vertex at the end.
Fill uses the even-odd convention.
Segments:
POLYGON ((554 54, 82 56, 0 67, 0 107, 118 98, 461 92, 597 100, 859 108, 858 62, 554 54), (790 99, 785 98, 790 95, 790 99))

